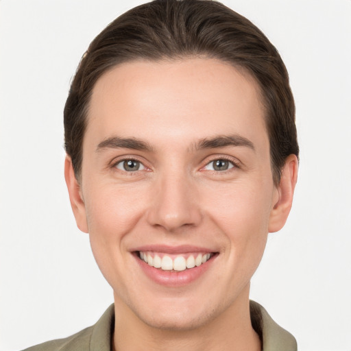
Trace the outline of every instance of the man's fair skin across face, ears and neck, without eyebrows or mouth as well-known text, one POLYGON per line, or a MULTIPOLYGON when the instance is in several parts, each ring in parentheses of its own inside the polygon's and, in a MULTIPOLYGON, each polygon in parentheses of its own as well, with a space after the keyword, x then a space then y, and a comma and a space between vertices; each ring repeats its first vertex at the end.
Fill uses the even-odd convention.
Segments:
POLYGON ((65 175, 77 226, 114 290, 115 349, 261 350, 250 278, 267 233, 289 215, 298 169, 289 156, 274 186, 264 114, 252 77, 213 59, 128 62, 97 81, 82 181, 69 157, 65 175), (101 147, 115 136, 149 149, 101 147), (252 145, 199 147, 218 136, 252 145), (138 171, 123 169, 130 159, 138 171), (213 169, 215 160, 228 169, 213 169), (138 245, 195 245, 216 256, 196 280, 169 287, 145 275, 138 245))

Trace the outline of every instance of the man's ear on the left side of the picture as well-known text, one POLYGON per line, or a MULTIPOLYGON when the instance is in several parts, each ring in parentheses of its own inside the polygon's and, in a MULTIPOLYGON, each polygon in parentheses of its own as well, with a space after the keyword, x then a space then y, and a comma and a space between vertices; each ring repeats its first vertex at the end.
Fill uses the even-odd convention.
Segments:
POLYGON ((71 158, 67 155, 64 160, 64 179, 66 180, 69 191, 69 201, 73 210, 75 221, 82 232, 88 232, 88 223, 86 222, 86 210, 82 197, 82 189, 75 178, 71 158))

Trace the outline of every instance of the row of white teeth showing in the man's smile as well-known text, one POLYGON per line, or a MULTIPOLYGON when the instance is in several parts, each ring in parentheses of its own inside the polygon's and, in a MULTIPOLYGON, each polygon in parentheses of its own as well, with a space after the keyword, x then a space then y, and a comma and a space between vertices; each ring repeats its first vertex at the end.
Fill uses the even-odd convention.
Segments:
POLYGON ((138 257, 149 266, 162 271, 185 271, 199 267, 215 256, 214 252, 204 252, 195 254, 169 255, 156 252, 136 252, 138 257))

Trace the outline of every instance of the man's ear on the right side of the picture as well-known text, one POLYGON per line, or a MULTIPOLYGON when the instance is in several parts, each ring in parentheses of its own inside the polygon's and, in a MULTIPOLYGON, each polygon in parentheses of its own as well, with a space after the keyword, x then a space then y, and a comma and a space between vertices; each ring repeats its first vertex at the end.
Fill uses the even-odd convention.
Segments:
POLYGON ((269 232, 278 232, 287 221, 293 204, 293 192, 298 181, 298 158, 289 155, 282 168, 280 183, 276 187, 277 199, 269 217, 269 232))

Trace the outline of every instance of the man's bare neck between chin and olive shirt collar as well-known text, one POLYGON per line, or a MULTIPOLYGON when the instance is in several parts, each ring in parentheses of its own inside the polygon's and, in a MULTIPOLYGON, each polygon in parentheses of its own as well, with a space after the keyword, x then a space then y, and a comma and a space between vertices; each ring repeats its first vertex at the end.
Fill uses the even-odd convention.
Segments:
POLYGON ((182 330, 155 328, 143 322, 114 296, 114 351, 232 351, 261 350, 261 341, 250 319, 247 293, 205 324, 182 330))

